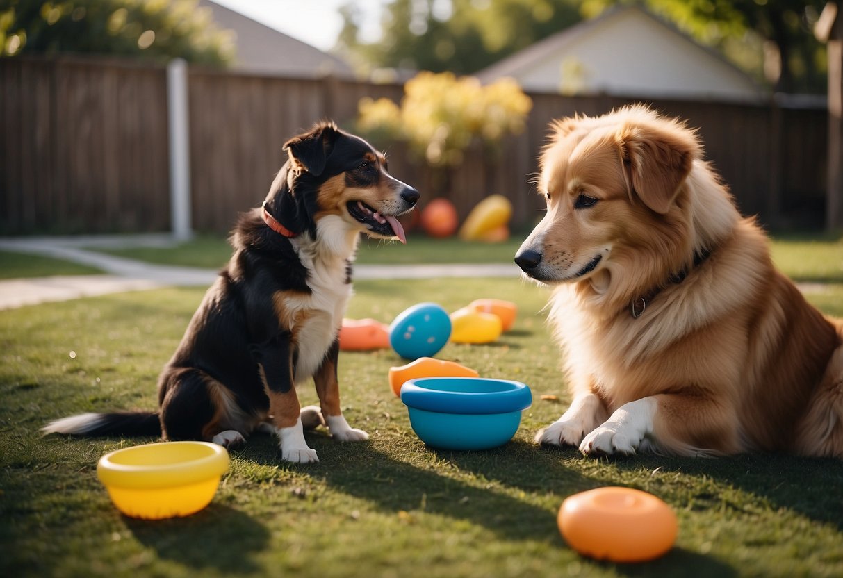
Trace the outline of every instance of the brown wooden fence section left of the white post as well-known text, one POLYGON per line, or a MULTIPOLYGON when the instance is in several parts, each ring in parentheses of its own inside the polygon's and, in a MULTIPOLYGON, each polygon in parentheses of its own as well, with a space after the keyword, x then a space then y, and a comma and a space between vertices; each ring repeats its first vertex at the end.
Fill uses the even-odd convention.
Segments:
POLYGON ((166 111, 163 68, 0 59, 0 233, 165 230, 166 111))

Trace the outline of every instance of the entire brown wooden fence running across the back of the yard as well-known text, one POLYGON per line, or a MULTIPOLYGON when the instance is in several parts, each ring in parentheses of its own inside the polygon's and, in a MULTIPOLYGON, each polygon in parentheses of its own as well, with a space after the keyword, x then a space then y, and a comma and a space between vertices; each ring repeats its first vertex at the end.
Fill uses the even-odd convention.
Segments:
MULTIPOLYGON (((80 58, 0 59, 0 234, 166 231, 170 227, 166 69, 80 58)), ((190 68, 193 227, 226 232, 263 200, 282 144, 314 121, 350 124, 363 96, 400 100, 400 85, 305 80, 190 68)), ((423 200, 447 195, 464 217, 502 193, 513 227, 543 206, 530 185, 549 120, 631 102, 531 94, 523 134, 495 158, 470 151, 448 175, 389 147, 390 172, 423 200)), ((826 110, 817 106, 650 100, 699 127, 709 158, 742 211, 772 227, 821 227, 826 110)))

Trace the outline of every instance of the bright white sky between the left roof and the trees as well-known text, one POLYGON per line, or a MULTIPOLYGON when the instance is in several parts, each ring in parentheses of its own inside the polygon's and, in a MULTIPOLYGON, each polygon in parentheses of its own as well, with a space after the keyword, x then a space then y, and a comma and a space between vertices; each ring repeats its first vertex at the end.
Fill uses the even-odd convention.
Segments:
MULTIPOLYGON (((351 0, 213 0, 226 8, 235 10, 277 29, 297 40, 307 42, 320 50, 328 51, 334 46, 342 29, 339 8, 351 0)), ((354 0, 357 7, 370 13, 364 22, 371 26, 361 29, 361 40, 376 40, 380 28, 381 0, 354 0)))

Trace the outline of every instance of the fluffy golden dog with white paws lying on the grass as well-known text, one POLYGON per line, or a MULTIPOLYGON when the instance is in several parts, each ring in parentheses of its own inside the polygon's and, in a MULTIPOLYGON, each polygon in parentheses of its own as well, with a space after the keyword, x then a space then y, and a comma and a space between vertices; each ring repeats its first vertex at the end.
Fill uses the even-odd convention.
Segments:
POLYGON ((537 442, 843 457, 843 324, 774 269, 694 131, 640 105, 567 118, 540 164, 515 260, 555 287, 572 404, 537 442))

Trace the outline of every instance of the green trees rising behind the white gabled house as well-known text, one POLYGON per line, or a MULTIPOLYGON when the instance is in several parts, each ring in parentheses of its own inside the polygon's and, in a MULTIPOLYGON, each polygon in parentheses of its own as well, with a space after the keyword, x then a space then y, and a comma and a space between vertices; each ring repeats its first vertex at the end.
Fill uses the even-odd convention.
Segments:
POLYGON ((633 3, 779 91, 824 90, 825 52, 811 29, 825 0, 395 0, 384 5, 383 37, 372 44, 357 40, 362 13, 350 3, 342 8, 338 45, 369 67, 470 74, 583 18, 633 3), (780 70, 771 67, 778 61, 780 70))

